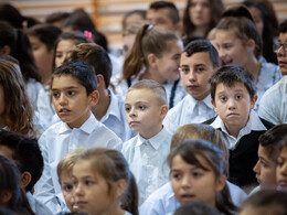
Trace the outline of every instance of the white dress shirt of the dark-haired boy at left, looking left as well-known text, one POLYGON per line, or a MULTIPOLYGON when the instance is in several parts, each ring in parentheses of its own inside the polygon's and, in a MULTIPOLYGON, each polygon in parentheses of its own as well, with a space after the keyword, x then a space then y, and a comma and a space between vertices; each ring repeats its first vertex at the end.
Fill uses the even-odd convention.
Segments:
POLYGON ((81 128, 71 129, 60 121, 52 125, 39 139, 44 159, 44 171, 35 184, 34 196, 44 203, 53 213, 64 212, 66 208, 56 168, 61 159, 71 150, 77 148, 121 148, 121 140, 106 126, 91 117, 81 128))

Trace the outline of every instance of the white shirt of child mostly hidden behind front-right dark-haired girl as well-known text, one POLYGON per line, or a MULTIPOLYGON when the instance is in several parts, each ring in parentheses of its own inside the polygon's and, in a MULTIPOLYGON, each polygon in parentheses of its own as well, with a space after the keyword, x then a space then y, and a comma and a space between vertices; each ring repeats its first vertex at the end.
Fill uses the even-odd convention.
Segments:
MULTIPOLYGON (((231 193, 231 198, 236 206, 241 206, 242 202, 247 197, 247 194, 241 187, 226 181, 231 193)), ((139 208, 139 215, 167 215, 173 214, 180 203, 177 201, 173 193, 171 182, 152 193, 139 208)))

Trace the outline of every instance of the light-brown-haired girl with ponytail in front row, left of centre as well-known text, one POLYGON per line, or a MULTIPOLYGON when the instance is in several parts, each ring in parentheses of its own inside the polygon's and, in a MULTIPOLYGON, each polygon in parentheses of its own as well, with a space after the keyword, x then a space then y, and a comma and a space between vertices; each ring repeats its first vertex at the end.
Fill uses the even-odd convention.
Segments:
POLYGON ((137 184, 120 152, 84 150, 73 166, 73 181, 79 212, 138 215, 137 184))

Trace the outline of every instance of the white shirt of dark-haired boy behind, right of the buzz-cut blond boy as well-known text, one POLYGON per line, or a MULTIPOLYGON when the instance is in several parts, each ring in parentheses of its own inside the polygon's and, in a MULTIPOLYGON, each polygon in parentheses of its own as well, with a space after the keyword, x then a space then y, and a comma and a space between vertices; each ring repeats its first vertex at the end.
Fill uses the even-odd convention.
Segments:
POLYGON ((188 123, 201 123, 216 116, 209 95, 203 100, 195 100, 187 95, 176 107, 168 111, 163 125, 173 133, 179 127, 188 123))

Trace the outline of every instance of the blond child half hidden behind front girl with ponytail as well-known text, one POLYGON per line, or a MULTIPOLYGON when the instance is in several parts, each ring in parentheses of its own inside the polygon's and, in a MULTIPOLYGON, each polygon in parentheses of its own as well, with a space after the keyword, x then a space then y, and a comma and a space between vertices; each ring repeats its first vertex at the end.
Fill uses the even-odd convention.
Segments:
POLYGON ((75 198, 73 196, 73 180, 72 180, 72 169, 78 158, 78 155, 84 151, 83 148, 72 150, 66 153, 66 155, 61 159, 57 164, 57 178, 61 185, 61 190, 66 203, 67 208, 71 212, 77 212, 77 206, 75 205, 75 198))

